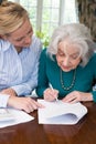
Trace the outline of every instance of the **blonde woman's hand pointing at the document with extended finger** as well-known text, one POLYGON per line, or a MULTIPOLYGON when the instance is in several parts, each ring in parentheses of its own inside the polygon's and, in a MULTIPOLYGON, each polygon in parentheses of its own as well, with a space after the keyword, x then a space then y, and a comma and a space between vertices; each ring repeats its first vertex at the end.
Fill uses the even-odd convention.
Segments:
POLYGON ((42 104, 38 103, 35 100, 31 97, 18 97, 10 96, 8 100, 8 105, 18 110, 23 110, 26 113, 31 113, 39 107, 44 107, 42 104))

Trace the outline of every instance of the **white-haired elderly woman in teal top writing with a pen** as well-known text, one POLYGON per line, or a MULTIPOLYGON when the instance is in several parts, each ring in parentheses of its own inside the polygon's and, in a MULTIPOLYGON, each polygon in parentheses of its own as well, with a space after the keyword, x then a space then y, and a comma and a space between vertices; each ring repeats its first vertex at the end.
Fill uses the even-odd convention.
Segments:
POLYGON ((84 24, 71 23, 54 30, 50 47, 41 54, 38 95, 46 101, 58 96, 70 103, 96 102, 94 45, 84 24))

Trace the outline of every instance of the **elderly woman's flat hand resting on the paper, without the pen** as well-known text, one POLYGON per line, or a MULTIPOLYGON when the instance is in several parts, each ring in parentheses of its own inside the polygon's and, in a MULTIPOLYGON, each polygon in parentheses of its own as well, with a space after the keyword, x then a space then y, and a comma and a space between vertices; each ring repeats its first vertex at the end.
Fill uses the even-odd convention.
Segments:
POLYGON ((66 103, 76 103, 76 102, 81 102, 81 101, 93 101, 93 95, 92 95, 92 93, 73 91, 70 94, 67 94, 62 101, 66 102, 66 103))

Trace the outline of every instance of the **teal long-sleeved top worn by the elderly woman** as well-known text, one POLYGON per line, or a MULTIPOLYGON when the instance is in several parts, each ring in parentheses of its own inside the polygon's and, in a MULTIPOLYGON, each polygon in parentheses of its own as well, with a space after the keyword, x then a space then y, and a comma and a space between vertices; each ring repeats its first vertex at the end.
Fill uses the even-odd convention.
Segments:
MULTIPOLYGON (((76 68, 75 81, 70 90, 64 90, 61 83, 61 69, 57 65, 55 55, 52 60, 46 50, 43 50, 40 58, 39 78, 36 94, 42 97, 45 89, 49 88, 49 83, 53 89, 58 90, 58 96, 64 97, 72 91, 92 92, 93 99, 96 102, 96 91, 93 91, 93 81, 96 79, 96 54, 92 56, 86 66, 78 65, 76 68)), ((74 78, 74 70, 70 72, 62 71, 62 80, 65 88, 71 86, 74 78)))

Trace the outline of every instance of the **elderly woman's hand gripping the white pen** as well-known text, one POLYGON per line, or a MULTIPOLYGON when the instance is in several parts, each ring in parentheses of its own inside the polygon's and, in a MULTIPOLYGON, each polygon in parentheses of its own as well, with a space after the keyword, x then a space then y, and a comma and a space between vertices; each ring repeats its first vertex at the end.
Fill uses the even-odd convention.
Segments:
POLYGON ((44 100, 45 101, 54 101, 58 96, 58 91, 55 89, 46 89, 43 93, 44 100))

